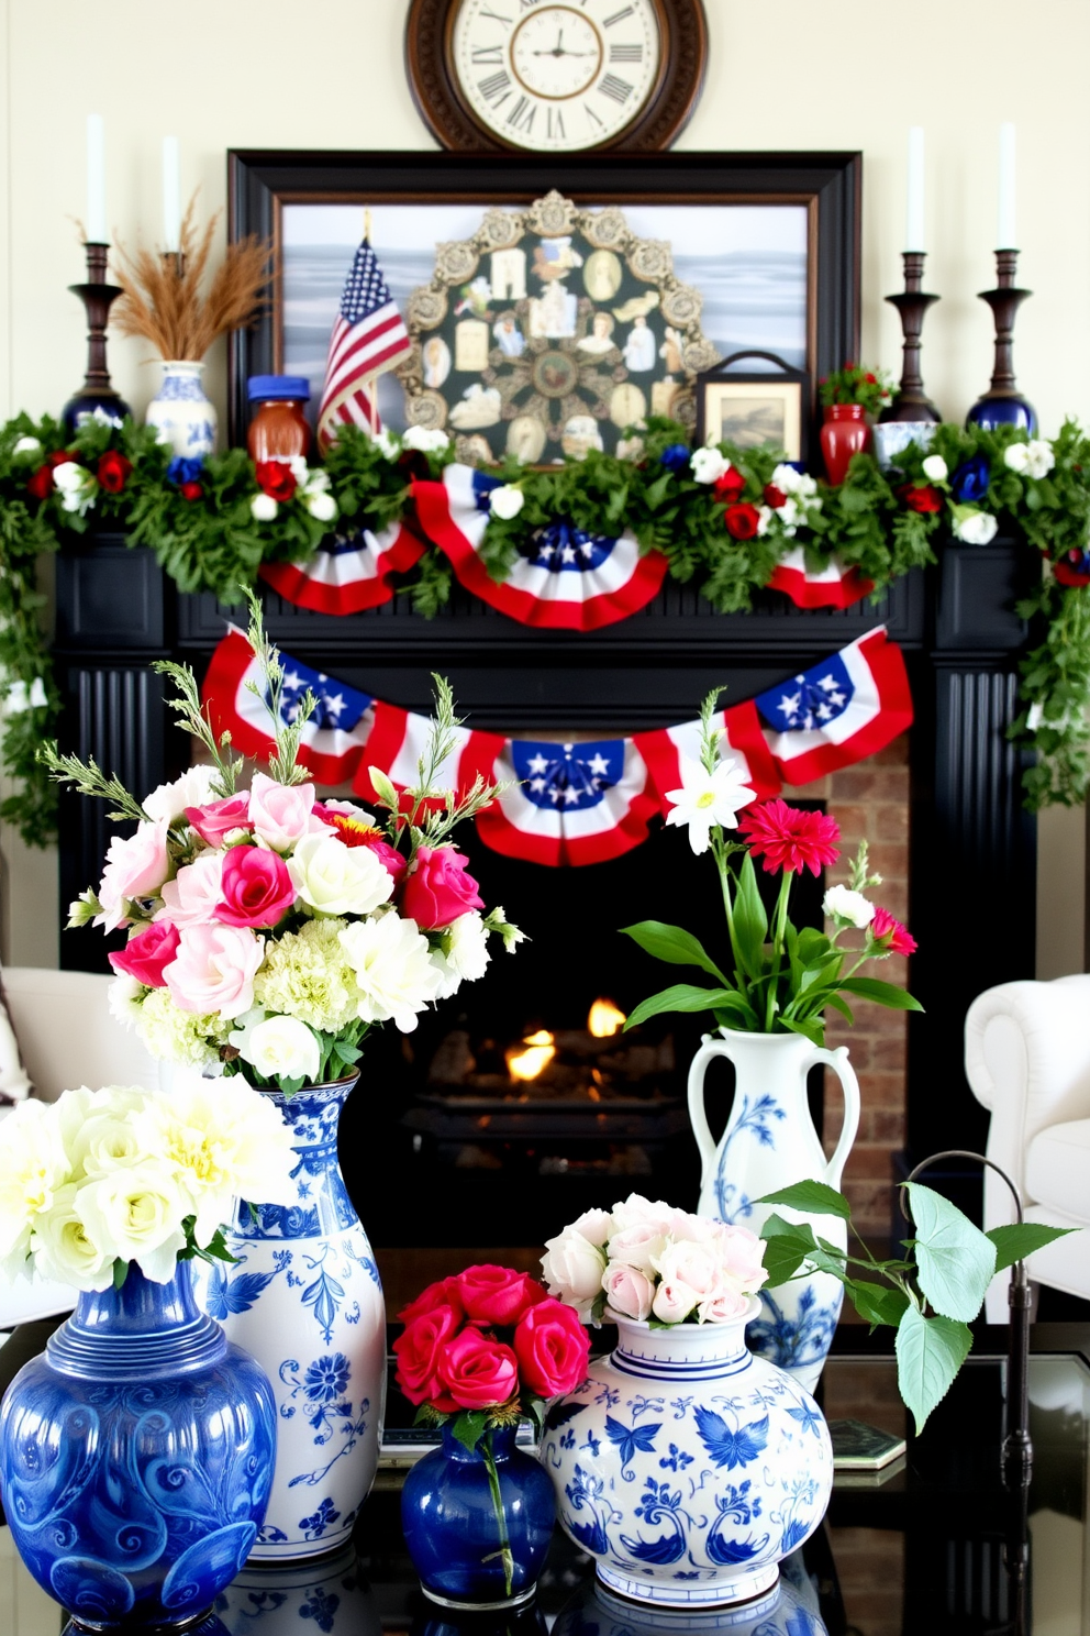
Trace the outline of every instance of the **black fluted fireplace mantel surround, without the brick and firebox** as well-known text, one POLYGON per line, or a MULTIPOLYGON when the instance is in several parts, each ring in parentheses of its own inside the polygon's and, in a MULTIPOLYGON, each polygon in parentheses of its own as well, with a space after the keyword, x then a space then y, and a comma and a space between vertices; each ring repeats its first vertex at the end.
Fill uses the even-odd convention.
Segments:
MULTIPOLYGON (((1013 607, 1033 573, 1031 553, 998 538, 946 545, 936 568, 847 612, 806 612, 763 592, 752 614, 721 615, 668 582, 642 614, 593 635, 529 630, 458 587, 435 620, 404 597, 348 618, 296 609, 268 589, 263 600, 271 636, 297 658, 412 710, 428 708, 430 672, 441 671, 472 725, 508 733, 621 735, 683 721, 709 687, 747 699, 884 622, 915 700, 912 987, 925 1016, 910 1018, 909 1145, 931 1152, 984 1139, 963 1073, 971 1000, 1034 973, 1036 825, 1005 736, 1026 641, 1013 607)), ((57 563, 62 748, 95 756, 134 790, 175 777, 188 743, 150 666, 185 659, 203 674, 229 617, 209 596, 180 594, 147 550, 116 535, 75 540, 57 563)), ((98 880, 108 838, 96 807, 62 797, 64 905, 98 880)), ((60 951, 64 967, 106 969, 100 937, 62 933, 60 951)))

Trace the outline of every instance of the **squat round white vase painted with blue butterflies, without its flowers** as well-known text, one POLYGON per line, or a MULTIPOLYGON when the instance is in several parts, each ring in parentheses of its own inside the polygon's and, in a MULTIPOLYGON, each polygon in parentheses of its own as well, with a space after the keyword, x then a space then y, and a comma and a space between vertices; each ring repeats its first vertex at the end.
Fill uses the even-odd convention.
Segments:
POLYGON ((832 1492, 820 1409, 732 1324, 650 1328, 619 1343, 546 1415, 541 1461, 561 1526, 611 1590, 654 1607, 745 1602, 776 1584, 832 1492))

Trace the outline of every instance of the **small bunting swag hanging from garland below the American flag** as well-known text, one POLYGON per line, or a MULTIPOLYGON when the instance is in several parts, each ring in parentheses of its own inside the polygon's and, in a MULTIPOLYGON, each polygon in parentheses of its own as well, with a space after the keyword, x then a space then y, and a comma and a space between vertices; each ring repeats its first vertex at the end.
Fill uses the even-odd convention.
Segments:
POLYGON ((420 561, 427 545, 404 522, 381 533, 360 528, 355 535, 330 535, 309 563, 263 563, 261 579, 296 607, 314 614, 361 614, 394 596, 391 574, 404 574, 420 561))

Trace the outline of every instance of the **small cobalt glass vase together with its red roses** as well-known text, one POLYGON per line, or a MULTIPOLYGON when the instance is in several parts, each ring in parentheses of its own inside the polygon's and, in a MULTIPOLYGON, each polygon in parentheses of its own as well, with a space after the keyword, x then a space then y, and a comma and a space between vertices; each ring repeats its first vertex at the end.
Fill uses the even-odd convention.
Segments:
POLYGON ((397 1384, 417 1423, 441 1428, 402 1489, 405 1544, 443 1607, 528 1602, 556 1520, 552 1484, 516 1446, 546 1404, 587 1376, 590 1338, 572 1307, 528 1273, 469 1266, 399 1314, 397 1384))

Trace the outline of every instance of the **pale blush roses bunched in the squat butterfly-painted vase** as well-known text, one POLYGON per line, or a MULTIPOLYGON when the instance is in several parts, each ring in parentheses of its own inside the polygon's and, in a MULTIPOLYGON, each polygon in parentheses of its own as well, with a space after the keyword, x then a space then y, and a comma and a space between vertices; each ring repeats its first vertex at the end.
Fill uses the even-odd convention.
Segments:
POLYGON ((675 1211, 639 1193, 611 1211, 585 1211, 546 1240, 549 1294, 583 1324, 605 1315, 670 1324, 729 1324, 768 1278, 765 1245, 748 1227, 675 1211))

